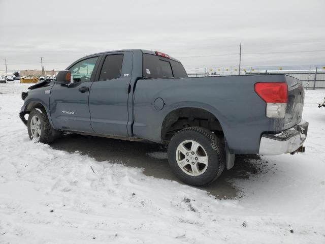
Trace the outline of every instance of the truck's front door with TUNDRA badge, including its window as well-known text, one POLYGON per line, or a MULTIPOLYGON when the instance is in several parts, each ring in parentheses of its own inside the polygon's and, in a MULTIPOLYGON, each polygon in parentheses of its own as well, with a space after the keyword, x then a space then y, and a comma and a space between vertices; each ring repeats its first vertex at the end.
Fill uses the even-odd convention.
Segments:
POLYGON ((73 64, 72 83, 54 84, 50 92, 50 113, 55 128, 93 132, 90 126, 89 91, 99 56, 73 64))

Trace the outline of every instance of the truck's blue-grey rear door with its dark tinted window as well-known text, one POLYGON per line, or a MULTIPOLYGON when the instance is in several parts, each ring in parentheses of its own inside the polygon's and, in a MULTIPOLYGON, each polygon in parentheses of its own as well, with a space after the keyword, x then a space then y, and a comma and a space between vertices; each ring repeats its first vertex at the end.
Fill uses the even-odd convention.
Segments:
POLYGON ((133 52, 103 56, 89 94, 90 124, 95 133, 127 134, 127 100, 132 76, 133 52))

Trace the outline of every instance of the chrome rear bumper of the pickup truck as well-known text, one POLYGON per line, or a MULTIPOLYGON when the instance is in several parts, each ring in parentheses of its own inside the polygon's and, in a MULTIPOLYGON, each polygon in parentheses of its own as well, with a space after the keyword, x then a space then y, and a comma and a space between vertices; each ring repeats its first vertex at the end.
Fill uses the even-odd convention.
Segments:
POLYGON ((308 131, 308 122, 302 120, 296 126, 279 134, 264 134, 259 144, 259 155, 280 155, 295 152, 303 145, 308 131))

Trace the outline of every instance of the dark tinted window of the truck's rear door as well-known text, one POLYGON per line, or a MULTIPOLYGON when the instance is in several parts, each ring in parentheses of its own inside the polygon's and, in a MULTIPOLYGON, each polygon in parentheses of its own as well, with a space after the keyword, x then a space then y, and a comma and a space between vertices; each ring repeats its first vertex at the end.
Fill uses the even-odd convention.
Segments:
POLYGON ((123 54, 107 55, 101 70, 100 81, 121 77, 123 54))

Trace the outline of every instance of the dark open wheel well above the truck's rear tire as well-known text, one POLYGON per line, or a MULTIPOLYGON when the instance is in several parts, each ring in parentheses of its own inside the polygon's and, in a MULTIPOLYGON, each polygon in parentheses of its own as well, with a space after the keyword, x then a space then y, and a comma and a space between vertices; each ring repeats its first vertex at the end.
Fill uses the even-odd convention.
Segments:
POLYGON ((219 120, 209 111, 201 108, 179 108, 165 117, 161 128, 161 139, 163 142, 168 142, 177 131, 192 126, 199 126, 223 135, 219 120))

